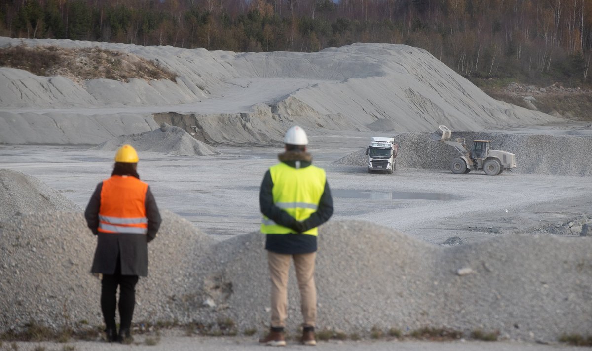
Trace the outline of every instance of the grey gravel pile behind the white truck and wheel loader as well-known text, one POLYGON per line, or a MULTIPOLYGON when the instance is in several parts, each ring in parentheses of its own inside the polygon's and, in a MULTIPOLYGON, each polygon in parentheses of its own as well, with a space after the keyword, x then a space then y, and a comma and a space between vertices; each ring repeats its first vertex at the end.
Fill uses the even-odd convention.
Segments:
MULTIPOLYGON (((459 153, 450 145, 435 142, 430 133, 401 133, 394 136, 399 144, 398 168, 449 170, 459 153)), ((592 175, 592 164, 584 161, 592 154, 592 139, 582 136, 525 135, 511 133, 453 132, 452 138, 491 140, 491 147, 516 154, 518 166, 513 173, 552 175, 592 175), (501 147, 500 147, 501 145, 501 147)), ((359 149, 333 164, 366 167, 366 148, 359 149)))

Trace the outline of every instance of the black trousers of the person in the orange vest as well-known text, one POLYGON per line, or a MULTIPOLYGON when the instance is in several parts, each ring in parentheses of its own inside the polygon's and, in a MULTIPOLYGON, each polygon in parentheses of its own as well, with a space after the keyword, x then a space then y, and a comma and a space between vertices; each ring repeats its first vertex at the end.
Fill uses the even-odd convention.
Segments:
POLYGON ((119 257, 114 275, 103 275, 101 280, 101 309, 105 326, 107 329, 115 329, 115 308, 117 307, 117 286, 119 292, 119 316, 121 318, 120 328, 130 329, 131 318, 134 315, 134 305, 136 305, 136 284, 138 276, 121 275, 119 257))

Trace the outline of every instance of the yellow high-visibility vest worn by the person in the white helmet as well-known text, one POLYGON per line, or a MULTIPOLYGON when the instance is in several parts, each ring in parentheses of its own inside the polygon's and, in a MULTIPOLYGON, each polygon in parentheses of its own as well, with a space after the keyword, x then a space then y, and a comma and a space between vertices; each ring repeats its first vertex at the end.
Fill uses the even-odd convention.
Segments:
MULTIPOLYGON (((325 190, 326 175, 322 168, 310 165, 296 169, 282 162, 269 168, 269 173, 274 183, 272 195, 276 206, 288 212, 298 221, 304 221, 316 212, 325 190)), ((294 231, 263 216, 261 232, 264 234, 288 234, 294 231)), ((316 236, 318 229, 311 228, 303 234, 316 236)))

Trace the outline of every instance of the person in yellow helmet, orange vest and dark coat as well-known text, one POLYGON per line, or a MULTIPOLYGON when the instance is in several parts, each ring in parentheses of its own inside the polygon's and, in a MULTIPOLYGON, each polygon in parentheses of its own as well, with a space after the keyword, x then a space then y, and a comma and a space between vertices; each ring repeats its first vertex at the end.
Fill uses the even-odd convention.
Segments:
POLYGON ((84 212, 97 235, 92 273, 100 273, 101 310, 108 342, 130 343, 136 304, 136 283, 148 274, 148 245, 160 227, 160 213, 148 184, 140 181, 138 154, 126 144, 115 154, 111 178, 96 186, 84 212), (120 287, 120 331, 115 324, 117 286, 120 287))

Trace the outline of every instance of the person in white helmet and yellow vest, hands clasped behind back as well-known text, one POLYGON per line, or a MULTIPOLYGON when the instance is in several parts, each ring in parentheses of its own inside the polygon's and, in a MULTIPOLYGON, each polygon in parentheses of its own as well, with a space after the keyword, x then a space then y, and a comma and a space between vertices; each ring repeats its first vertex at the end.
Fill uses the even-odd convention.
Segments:
POLYGON ((307 152, 308 138, 299 126, 285 135, 285 152, 279 164, 263 177, 259 205, 263 213, 261 232, 265 234, 271 275, 271 329, 259 340, 284 346, 288 305, 288 269, 294 260, 304 317, 301 343, 316 345, 317 291, 314 261, 317 254, 317 226, 333 214, 333 199, 325 171, 312 165, 307 152))

